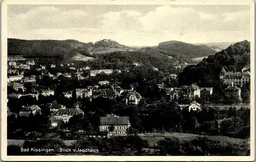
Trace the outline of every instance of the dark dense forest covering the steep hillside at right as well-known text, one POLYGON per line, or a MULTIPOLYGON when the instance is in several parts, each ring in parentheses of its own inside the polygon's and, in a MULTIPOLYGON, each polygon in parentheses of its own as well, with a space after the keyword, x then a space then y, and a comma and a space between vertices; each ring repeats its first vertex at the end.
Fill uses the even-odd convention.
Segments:
POLYGON ((221 85, 220 71, 224 67, 229 71, 241 72, 250 65, 250 42, 247 40, 230 45, 228 48, 209 56, 197 65, 184 68, 179 74, 179 85, 197 83, 199 87, 214 87, 221 85))

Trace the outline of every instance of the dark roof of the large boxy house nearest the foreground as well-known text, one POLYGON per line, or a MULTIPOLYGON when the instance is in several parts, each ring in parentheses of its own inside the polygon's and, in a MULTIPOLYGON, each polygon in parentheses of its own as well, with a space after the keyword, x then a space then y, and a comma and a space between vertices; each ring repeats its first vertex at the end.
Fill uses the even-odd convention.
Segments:
POLYGON ((106 116, 100 117, 101 125, 128 125, 129 117, 106 116))

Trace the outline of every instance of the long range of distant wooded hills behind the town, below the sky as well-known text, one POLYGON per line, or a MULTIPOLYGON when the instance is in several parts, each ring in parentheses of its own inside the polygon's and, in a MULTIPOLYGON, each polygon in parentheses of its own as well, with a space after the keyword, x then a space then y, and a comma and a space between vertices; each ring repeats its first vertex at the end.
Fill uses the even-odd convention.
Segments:
MULTIPOLYGON (((193 45, 179 41, 159 43, 157 47, 140 49, 127 47, 113 40, 100 40, 83 43, 77 40, 20 40, 8 39, 8 55, 23 55, 31 58, 69 59, 77 53, 91 56, 90 53, 111 53, 114 51, 140 51, 150 55, 166 55, 173 61, 191 61, 192 58, 213 55, 216 51, 206 45, 193 45)), ((130 52, 127 52, 129 55, 130 52)))

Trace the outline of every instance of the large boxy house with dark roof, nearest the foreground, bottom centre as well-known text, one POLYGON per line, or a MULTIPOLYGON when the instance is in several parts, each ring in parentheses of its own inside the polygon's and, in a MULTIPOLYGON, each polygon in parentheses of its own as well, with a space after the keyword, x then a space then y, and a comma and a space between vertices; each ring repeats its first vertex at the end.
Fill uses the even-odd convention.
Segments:
POLYGON ((119 117, 114 114, 108 114, 105 117, 100 117, 99 131, 108 131, 110 134, 127 134, 127 129, 131 126, 129 117, 119 117), (110 127, 114 130, 109 132, 110 127))

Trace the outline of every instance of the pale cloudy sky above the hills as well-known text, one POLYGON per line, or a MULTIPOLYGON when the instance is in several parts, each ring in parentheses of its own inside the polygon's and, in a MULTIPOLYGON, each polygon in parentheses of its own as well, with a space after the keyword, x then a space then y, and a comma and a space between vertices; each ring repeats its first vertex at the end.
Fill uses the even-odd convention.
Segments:
POLYGON ((8 5, 8 38, 125 45, 250 41, 249 6, 8 5))

